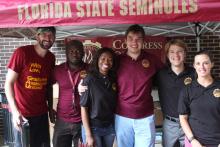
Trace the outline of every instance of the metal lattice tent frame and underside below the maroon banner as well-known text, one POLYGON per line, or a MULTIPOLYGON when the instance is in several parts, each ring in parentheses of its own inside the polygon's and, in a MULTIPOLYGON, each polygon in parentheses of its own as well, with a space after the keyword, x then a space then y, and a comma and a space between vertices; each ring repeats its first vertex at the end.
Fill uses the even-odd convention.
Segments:
MULTIPOLYGON (((109 37, 123 35, 130 24, 99 26, 56 26, 58 40, 68 36, 75 37, 109 37)), ((142 25, 148 36, 200 36, 206 32, 220 32, 220 22, 205 23, 163 23, 142 25), (196 31, 196 27, 199 31, 196 31)), ((0 28, 0 37, 33 39, 36 28, 0 28)))

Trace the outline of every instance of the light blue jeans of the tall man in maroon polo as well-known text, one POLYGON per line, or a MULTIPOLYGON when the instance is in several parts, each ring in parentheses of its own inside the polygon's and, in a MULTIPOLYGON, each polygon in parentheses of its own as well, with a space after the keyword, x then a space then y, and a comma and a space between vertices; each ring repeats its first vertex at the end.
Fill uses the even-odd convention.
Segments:
POLYGON ((154 147, 154 115, 141 119, 115 115, 115 131, 118 147, 154 147))

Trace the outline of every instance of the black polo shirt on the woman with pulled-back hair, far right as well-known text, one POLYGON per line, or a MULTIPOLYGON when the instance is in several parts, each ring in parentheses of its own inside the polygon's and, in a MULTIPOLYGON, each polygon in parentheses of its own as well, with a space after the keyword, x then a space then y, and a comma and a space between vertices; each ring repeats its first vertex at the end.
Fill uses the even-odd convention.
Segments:
POLYGON ((220 81, 203 87, 197 81, 180 94, 178 111, 189 115, 193 135, 203 145, 220 144, 220 81))

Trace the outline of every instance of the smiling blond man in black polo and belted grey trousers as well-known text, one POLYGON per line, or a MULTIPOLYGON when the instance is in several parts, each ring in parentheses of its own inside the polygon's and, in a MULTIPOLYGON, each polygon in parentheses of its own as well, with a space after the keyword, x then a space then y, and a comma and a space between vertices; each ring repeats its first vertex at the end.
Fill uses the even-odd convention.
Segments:
POLYGON ((179 122, 177 111, 180 90, 194 79, 194 70, 185 64, 187 46, 180 39, 166 43, 165 54, 167 65, 156 76, 156 85, 162 112, 163 146, 183 147, 184 133, 179 122))

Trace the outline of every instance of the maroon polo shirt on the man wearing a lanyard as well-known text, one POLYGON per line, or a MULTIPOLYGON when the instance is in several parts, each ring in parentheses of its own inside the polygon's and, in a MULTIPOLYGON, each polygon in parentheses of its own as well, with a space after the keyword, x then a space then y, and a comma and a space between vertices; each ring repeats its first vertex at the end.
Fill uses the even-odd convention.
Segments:
POLYGON ((68 66, 66 63, 55 67, 54 79, 59 85, 59 99, 57 104, 57 117, 66 122, 77 123, 81 121, 80 112, 80 97, 77 91, 78 84, 81 78, 84 78, 85 71, 88 65, 84 64, 80 69, 71 70, 71 76, 74 83, 74 87, 71 83, 71 78, 68 74, 68 66), (73 94, 73 91, 74 94, 73 94), (73 106, 73 99, 75 106, 73 106))

